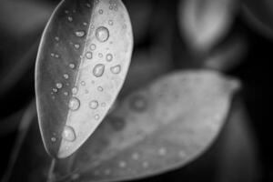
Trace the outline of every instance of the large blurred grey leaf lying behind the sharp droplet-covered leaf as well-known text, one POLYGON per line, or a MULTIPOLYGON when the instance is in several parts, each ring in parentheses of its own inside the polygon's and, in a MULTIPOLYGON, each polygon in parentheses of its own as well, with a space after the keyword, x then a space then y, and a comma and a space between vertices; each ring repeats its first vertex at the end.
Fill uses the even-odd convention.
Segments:
POLYGON ((75 155, 56 164, 56 181, 120 181, 182 167, 212 144, 238 81, 209 71, 163 76, 117 106, 75 155))

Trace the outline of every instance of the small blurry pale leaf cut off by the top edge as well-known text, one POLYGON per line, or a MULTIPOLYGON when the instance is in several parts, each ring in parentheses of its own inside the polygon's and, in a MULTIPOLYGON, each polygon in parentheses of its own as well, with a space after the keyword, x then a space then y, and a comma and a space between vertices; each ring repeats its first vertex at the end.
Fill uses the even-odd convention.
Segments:
POLYGON ((217 45, 227 35, 236 5, 234 0, 181 0, 178 23, 187 45, 201 52, 217 45))

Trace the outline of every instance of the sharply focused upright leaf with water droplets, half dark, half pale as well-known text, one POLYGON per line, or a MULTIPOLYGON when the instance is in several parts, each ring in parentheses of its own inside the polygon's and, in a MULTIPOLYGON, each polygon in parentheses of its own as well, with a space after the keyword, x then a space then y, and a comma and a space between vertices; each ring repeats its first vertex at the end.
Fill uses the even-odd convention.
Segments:
POLYGON ((35 68, 46 151, 68 157, 100 124, 124 83, 133 48, 120 0, 62 1, 45 27, 35 68))

